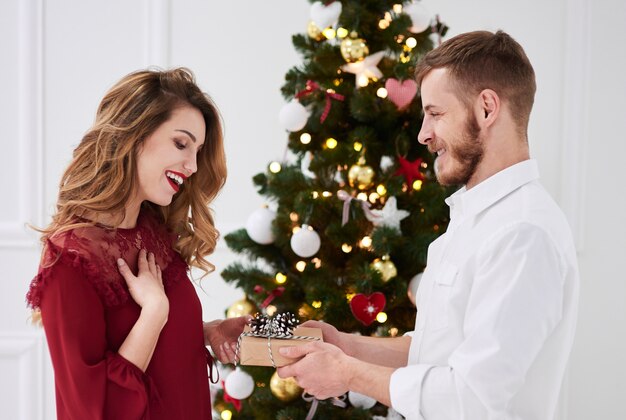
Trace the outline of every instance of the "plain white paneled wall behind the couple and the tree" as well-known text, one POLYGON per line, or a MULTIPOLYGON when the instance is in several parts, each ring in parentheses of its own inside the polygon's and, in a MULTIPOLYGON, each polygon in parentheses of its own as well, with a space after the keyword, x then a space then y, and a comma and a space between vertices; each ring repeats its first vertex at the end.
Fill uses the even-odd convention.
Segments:
MULTIPOLYGON (((531 152, 577 237, 582 295, 561 420, 626 418, 626 5, 619 0, 425 0, 450 34, 504 29, 526 48, 538 94, 531 152), (595 147, 594 147, 595 146, 595 147), (620 216, 622 215, 622 216, 620 216)), ((224 233, 262 204, 252 176, 283 155, 277 123, 284 74, 300 58, 291 35, 306 29, 305 0, 5 0, 0 2, 0 407, 11 419, 54 418, 54 388, 41 331, 24 294, 36 238, 71 150, 97 103, 122 75, 185 65, 226 124, 227 185, 215 203, 224 233), (17 385, 16 385, 17 384, 17 385)), ((222 244, 218 270, 235 257, 222 244)), ((241 297, 218 275, 199 291, 206 319, 241 297)), ((532 308, 529 308, 529 311, 532 308)))

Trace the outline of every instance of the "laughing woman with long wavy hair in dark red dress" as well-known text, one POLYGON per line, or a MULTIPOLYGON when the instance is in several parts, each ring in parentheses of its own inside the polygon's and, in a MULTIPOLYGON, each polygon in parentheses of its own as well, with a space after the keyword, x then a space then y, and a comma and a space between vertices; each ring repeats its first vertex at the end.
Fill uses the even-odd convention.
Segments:
POLYGON ((245 318, 203 325, 187 276, 218 232, 222 127, 189 70, 139 71, 105 95, 42 229, 27 295, 40 311, 59 419, 208 419, 211 345, 222 362, 245 318))

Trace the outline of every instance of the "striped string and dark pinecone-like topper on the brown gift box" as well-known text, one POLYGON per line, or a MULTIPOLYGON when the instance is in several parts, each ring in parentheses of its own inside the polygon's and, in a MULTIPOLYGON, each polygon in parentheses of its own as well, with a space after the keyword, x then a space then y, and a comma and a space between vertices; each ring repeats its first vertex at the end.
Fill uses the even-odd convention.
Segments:
POLYGON ((234 361, 235 366, 239 364, 239 351, 241 349, 241 340, 243 337, 267 338, 267 349, 273 368, 276 368, 276 363, 274 362, 274 355, 272 354, 272 338, 280 338, 282 340, 319 340, 318 337, 293 335, 293 329, 298 325, 298 320, 289 312, 280 313, 273 318, 256 314, 254 318, 250 320, 249 325, 251 330, 249 332, 241 333, 237 339, 234 361))

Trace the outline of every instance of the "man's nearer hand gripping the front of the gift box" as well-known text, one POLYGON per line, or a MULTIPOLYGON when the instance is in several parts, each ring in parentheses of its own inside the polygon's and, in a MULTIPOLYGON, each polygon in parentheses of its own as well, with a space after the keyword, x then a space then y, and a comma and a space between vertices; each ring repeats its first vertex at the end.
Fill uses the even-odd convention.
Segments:
POLYGON ((291 365, 278 368, 281 378, 293 376, 300 387, 320 400, 348 392, 351 365, 355 359, 339 347, 317 341, 303 346, 283 347, 279 351, 283 356, 294 359, 304 356, 291 365))

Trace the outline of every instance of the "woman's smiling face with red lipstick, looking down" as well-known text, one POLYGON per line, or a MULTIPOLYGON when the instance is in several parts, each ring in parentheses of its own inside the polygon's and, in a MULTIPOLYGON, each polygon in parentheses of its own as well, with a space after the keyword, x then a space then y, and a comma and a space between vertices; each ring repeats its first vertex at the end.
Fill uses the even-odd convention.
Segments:
POLYGON ((138 190, 135 199, 167 206, 184 188, 185 180, 197 167, 197 155, 204 145, 202 113, 191 106, 172 112, 141 145, 137 156, 138 190))

